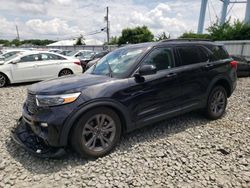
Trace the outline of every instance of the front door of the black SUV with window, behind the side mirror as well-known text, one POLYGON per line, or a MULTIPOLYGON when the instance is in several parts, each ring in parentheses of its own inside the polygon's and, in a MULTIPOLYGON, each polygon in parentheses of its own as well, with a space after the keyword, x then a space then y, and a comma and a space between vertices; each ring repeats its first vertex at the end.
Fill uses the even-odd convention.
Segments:
POLYGON ((178 111, 181 94, 171 48, 153 49, 144 58, 143 64, 156 66, 157 73, 143 76, 143 82, 130 78, 131 86, 125 91, 130 95, 127 106, 131 119, 138 126, 166 118, 178 111))

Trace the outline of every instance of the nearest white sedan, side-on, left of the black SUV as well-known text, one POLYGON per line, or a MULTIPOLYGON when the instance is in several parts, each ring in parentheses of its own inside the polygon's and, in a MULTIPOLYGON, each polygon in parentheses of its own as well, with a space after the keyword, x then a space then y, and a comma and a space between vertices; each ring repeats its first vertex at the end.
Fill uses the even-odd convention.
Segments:
POLYGON ((81 73, 78 59, 51 52, 22 52, 0 62, 0 87, 81 73))

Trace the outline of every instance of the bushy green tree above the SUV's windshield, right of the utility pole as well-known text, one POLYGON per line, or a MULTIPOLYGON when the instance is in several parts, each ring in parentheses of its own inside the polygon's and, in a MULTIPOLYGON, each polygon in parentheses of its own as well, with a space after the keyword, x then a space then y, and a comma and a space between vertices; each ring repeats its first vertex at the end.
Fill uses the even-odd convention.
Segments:
POLYGON ((151 42, 154 35, 147 26, 126 28, 122 30, 122 36, 118 39, 118 44, 136 44, 141 42, 151 42))

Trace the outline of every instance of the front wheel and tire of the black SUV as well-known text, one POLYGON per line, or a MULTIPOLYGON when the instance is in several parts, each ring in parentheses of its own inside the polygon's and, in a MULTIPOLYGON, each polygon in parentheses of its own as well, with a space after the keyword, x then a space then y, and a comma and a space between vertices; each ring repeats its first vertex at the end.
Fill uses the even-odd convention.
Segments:
POLYGON ((84 158, 98 158, 111 152, 120 136, 121 121, 118 115, 110 108, 100 107, 88 111, 78 120, 71 136, 71 145, 84 158))

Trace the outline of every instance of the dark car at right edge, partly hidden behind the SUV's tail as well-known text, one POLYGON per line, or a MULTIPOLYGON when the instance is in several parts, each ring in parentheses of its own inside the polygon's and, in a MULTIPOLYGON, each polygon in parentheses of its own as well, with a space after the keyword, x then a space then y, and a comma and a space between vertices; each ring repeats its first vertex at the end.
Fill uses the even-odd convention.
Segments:
POLYGON ((248 61, 244 56, 231 55, 231 57, 238 61, 237 76, 247 77, 250 76, 250 61, 248 61))

